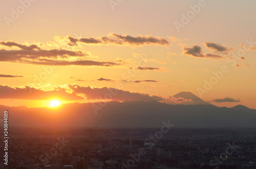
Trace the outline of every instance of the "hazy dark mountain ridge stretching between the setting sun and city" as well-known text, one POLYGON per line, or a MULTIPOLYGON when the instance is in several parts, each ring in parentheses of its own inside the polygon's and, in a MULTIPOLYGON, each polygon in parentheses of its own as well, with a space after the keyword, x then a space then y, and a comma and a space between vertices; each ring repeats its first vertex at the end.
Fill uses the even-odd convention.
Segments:
POLYGON ((106 102, 95 113, 98 103, 69 103, 58 108, 8 107, 13 127, 159 127, 169 120, 176 127, 255 127, 256 110, 235 110, 210 105, 169 105, 160 102, 106 102))

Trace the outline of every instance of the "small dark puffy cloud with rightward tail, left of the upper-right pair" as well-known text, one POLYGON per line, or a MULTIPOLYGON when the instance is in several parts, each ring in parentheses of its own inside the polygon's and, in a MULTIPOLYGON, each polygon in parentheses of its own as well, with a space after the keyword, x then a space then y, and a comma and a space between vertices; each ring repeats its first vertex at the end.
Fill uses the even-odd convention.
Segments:
POLYGON ((203 51, 202 51, 202 47, 199 46, 198 44, 195 44, 192 47, 184 46, 183 50, 184 50, 184 54, 188 55, 188 56, 200 57, 200 58, 212 58, 212 59, 223 58, 222 56, 217 55, 217 54, 205 54, 204 55, 203 51))

